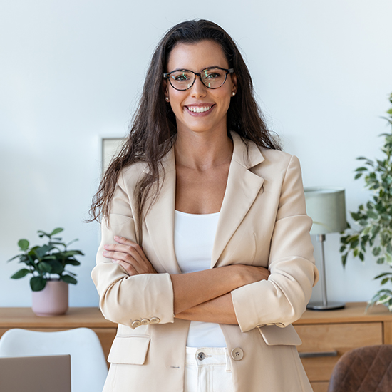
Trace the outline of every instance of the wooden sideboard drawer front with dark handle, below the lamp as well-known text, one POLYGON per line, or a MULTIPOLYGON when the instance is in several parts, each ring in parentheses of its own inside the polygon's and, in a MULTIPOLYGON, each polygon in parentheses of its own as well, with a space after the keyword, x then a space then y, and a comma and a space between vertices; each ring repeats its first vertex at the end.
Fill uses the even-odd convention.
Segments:
POLYGON ((351 349, 383 344, 383 323, 294 325, 299 355, 310 381, 329 381, 339 358, 351 349))

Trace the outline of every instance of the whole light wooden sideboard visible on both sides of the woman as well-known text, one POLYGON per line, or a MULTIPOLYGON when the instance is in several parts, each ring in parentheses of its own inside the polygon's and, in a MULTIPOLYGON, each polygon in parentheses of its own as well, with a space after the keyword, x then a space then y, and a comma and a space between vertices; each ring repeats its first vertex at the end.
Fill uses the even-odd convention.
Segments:
MULTIPOLYGON (((336 311, 307 310, 294 328, 302 340, 298 346, 314 392, 326 392, 336 362, 346 351, 371 344, 392 344, 392 314, 385 306, 353 302, 336 311)), ((117 326, 105 320, 98 308, 70 308, 63 316, 38 317, 30 308, 0 308, 0 336, 11 328, 61 331, 85 326, 96 332, 105 356, 117 326)))

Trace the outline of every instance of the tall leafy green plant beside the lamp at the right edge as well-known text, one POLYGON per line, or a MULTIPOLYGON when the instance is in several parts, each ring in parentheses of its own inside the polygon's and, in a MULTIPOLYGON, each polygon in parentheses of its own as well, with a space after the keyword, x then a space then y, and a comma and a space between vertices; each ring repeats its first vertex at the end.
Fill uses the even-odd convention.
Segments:
MULTIPOLYGON (((389 97, 392 104, 392 94, 389 97)), ((389 125, 392 125, 392 108, 388 110, 389 125)), ((370 160, 359 157, 363 165, 356 169, 355 180, 363 177, 365 187, 371 190, 371 199, 366 205, 360 205, 351 217, 359 225, 359 229, 348 229, 341 235, 341 261, 346 265, 347 257, 351 253, 363 262, 366 250, 371 250, 377 257, 378 264, 386 264, 392 268, 392 129, 390 133, 382 133, 383 159, 370 160)), ((392 282, 392 272, 383 272, 374 279, 381 279, 381 286, 392 282)), ((380 289, 368 301, 368 306, 383 304, 392 311, 391 289, 380 289)))

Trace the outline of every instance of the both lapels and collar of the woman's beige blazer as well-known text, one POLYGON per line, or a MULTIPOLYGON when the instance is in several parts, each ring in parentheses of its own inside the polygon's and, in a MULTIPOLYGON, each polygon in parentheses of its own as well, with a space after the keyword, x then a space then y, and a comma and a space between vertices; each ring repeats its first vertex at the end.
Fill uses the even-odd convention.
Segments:
MULTIPOLYGON (((254 199, 262 189, 264 179, 250 169, 264 161, 259 147, 252 142, 247 145, 242 138, 232 132, 234 150, 229 167, 229 176, 225 197, 223 198, 220 217, 212 249, 211 267, 221 265, 220 255, 227 242, 252 206, 254 199)), ((174 249, 175 220, 175 153, 174 147, 162 160, 164 179, 160 195, 150 212, 145 217, 145 225, 154 250, 161 264, 170 274, 180 274, 174 249)), ((224 260, 222 260, 224 264, 224 260)))

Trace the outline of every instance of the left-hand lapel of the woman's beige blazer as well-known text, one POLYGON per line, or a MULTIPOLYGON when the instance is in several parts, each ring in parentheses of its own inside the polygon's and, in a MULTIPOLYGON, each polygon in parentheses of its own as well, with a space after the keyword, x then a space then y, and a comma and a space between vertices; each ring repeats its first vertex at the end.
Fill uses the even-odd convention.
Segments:
POLYGON ((165 177, 158 200, 145 217, 145 225, 160 263, 170 274, 180 274, 174 249, 175 153, 174 147, 163 158, 165 177))

